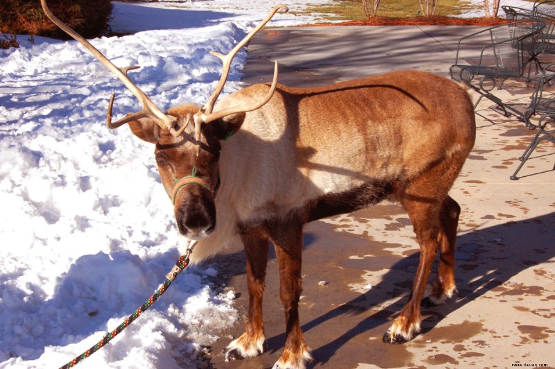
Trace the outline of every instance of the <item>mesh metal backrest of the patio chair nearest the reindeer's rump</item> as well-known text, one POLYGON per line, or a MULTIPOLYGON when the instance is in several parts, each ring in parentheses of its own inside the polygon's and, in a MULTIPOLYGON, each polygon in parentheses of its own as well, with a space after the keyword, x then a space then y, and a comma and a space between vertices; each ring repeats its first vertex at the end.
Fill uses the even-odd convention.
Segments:
POLYGON ((545 22, 540 19, 527 19, 491 28, 497 67, 522 75, 524 67, 533 59, 538 34, 544 27, 545 22))

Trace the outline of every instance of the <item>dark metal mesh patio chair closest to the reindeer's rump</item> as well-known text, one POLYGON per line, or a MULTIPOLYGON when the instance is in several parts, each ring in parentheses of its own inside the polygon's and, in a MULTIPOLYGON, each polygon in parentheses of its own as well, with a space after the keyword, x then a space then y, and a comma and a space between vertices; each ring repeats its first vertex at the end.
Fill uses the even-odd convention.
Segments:
POLYGON ((450 75, 480 94, 475 108, 485 97, 499 106, 506 116, 510 115, 508 110, 522 116, 521 111, 503 103, 491 91, 497 87, 497 80, 501 81, 499 89, 508 78, 529 80, 524 76, 524 69, 533 60, 533 49, 543 28, 543 20, 526 19, 486 28, 459 40, 450 75), (477 47, 480 48, 479 58, 475 55, 477 47))

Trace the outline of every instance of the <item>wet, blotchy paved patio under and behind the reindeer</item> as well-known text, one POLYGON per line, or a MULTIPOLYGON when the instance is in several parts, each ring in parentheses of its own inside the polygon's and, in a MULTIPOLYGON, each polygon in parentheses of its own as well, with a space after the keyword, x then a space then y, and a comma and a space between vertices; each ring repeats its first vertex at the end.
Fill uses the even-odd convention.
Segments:
MULTIPOLYGON (((291 87, 396 69, 447 76, 456 42, 477 29, 265 29, 248 46, 244 81, 271 79, 268 60, 275 58, 280 83, 291 87)), ((495 94, 526 103, 532 88, 511 82, 495 94)), ((300 318, 315 359, 309 368, 555 368, 555 146, 540 144, 520 171, 522 178, 511 181, 518 157, 536 132, 490 105, 481 101, 477 108, 475 148, 450 192, 462 207, 455 266, 459 294, 443 306, 422 308, 422 332, 413 341, 382 343, 407 302, 418 265, 418 246, 404 210, 386 203, 306 226, 300 318)), ((244 255, 228 250, 216 263, 238 295, 241 318, 219 332, 209 365, 271 368, 284 343, 273 250, 264 299, 267 351, 253 359, 225 363, 221 354, 244 329, 244 255)))

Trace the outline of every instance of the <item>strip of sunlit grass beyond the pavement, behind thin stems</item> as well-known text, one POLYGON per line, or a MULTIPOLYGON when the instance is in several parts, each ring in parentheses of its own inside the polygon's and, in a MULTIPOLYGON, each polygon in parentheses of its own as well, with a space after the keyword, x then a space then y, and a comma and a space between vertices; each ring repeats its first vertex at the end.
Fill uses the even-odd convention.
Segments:
MULTIPOLYGON (((461 12, 469 9, 472 9, 472 6, 468 1, 441 0, 438 1, 435 15, 460 15, 461 12)), ((418 0, 382 0, 379 4, 377 17, 417 17, 419 11, 418 0)), ((309 6, 305 12, 329 14, 328 17, 322 17, 322 20, 357 21, 367 19, 361 0, 335 0, 332 5, 309 6)))

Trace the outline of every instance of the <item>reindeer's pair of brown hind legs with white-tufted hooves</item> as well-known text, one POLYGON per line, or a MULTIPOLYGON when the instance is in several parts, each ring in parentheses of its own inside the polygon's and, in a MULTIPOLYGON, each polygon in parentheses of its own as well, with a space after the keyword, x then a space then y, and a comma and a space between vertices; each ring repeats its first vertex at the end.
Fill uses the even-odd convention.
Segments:
POLYGON ((464 159, 462 152, 445 157, 395 192, 413 224, 420 246, 420 261, 411 297, 384 334, 386 343, 404 343, 420 332, 420 303, 440 247, 442 261, 436 280, 436 297, 439 300, 443 295, 454 293, 454 240, 460 208, 448 196, 448 191, 464 159))

